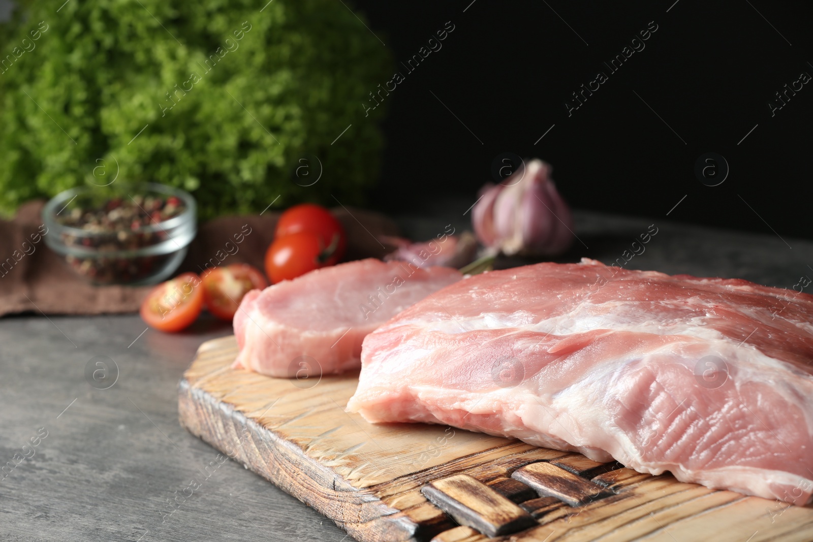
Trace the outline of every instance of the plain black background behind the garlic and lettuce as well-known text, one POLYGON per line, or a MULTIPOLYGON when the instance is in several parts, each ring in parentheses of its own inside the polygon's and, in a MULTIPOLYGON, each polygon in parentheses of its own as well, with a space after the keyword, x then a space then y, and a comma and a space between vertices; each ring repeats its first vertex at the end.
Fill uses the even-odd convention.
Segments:
POLYGON ((810 12, 802 2, 673 3, 356 0, 397 63, 455 26, 386 98, 372 206, 474 202, 507 151, 551 163, 576 208, 663 217, 686 195, 669 219, 811 238, 813 84, 773 117, 767 106, 801 72, 813 76, 810 12), (602 62, 650 21, 659 28, 646 48, 611 74, 602 62), (609 80, 568 117, 564 102, 599 70, 609 80), (707 152, 728 162, 723 184, 695 176, 707 152))

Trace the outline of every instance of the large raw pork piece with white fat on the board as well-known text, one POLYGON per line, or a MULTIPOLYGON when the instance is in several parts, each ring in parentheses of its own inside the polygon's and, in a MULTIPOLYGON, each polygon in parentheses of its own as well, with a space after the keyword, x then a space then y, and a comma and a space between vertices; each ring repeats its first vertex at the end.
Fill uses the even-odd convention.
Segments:
POLYGON ((348 410, 804 504, 811 322, 813 296, 746 280, 586 258, 493 271, 368 335, 348 410))

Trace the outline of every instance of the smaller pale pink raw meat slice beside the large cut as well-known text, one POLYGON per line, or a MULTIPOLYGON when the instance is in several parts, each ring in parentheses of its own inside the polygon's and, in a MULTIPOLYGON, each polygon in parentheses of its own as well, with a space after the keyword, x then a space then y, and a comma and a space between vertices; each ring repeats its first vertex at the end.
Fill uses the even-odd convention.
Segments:
POLYGON ((234 367, 281 377, 358 368, 367 333, 461 278, 449 267, 371 258, 252 290, 234 315, 234 367))

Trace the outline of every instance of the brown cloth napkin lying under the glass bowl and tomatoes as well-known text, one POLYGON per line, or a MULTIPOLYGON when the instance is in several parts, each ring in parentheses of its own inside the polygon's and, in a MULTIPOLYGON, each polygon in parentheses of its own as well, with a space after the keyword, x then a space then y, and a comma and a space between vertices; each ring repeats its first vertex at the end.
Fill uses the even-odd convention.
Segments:
MULTIPOLYGON (((43 314, 136 312, 154 287, 93 286, 75 275, 39 235, 45 231, 40 216, 43 205, 41 200, 28 202, 20 206, 13 220, 0 220, 0 316, 29 310, 43 314)), ((343 207, 331 212, 347 233, 346 260, 381 258, 387 249, 377 237, 398 235, 395 223, 376 212, 343 207)), ((210 268, 250 263, 263 270, 265 251, 279 216, 266 211, 263 215, 223 216, 201 224, 176 274, 200 273, 207 262, 210 268), (239 244, 235 243, 236 234, 242 240, 239 244)))

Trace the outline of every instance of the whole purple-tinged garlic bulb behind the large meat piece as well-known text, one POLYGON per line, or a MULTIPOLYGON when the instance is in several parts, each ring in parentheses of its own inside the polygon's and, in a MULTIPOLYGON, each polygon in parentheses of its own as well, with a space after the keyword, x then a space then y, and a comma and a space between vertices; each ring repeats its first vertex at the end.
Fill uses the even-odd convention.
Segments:
POLYGON ((486 184, 472 209, 477 239, 503 254, 553 256, 573 241, 573 217, 550 179, 550 166, 533 159, 501 184, 486 184))

